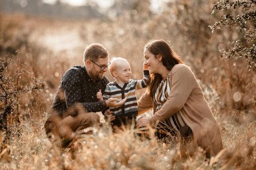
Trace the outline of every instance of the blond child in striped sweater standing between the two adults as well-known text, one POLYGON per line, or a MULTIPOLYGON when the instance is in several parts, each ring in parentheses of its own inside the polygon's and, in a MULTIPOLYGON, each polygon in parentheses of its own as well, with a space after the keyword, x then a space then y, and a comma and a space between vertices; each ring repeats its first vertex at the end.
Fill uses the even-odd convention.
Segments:
POLYGON ((121 126, 130 124, 137 116, 137 98, 135 91, 147 87, 147 80, 150 77, 149 71, 144 70, 143 80, 131 79, 131 67, 125 58, 114 57, 109 66, 110 74, 115 78, 114 82, 107 84, 104 95, 97 92, 98 100, 108 100, 110 97, 118 101, 127 98, 124 105, 119 108, 111 108, 115 120, 113 125, 121 126))

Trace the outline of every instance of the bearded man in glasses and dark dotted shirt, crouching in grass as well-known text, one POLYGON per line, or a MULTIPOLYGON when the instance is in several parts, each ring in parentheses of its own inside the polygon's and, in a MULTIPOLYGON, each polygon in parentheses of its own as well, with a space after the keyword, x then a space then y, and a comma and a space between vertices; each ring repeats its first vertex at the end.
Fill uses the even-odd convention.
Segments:
POLYGON ((103 92, 109 83, 104 76, 110 64, 108 56, 104 46, 90 44, 84 51, 84 66, 73 66, 61 78, 44 125, 51 142, 67 147, 77 131, 100 124, 95 112, 105 112, 109 107, 121 107, 125 103, 126 99, 118 103, 113 98, 97 100, 97 92, 103 92))

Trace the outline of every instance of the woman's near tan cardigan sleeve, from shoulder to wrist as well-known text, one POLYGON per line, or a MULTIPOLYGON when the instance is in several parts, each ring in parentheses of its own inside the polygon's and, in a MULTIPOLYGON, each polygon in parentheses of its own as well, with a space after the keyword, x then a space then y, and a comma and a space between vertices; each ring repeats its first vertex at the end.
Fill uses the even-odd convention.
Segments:
POLYGON ((156 121, 166 120, 180 111, 188 100, 193 88, 196 86, 196 78, 187 66, 181 66, 172 73, 171 92, 166 103, 158 112, 150 118, 150 124, 156 121))

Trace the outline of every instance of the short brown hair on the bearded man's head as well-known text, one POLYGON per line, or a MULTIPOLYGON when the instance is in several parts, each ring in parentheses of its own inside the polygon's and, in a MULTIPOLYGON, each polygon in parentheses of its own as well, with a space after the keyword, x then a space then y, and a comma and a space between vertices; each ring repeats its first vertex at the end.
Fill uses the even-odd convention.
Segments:
POLYGON ((84 50, 84 62, 86 59, 97 61, 98 58, 106 58, 108 56, 108 50, 103 45, 98 43, 90 44, 84 50))

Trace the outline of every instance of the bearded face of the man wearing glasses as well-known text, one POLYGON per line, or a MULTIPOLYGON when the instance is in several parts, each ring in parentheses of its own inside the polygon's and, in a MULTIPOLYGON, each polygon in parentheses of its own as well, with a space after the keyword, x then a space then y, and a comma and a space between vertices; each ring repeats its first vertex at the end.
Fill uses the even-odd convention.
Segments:
POLYGON ((90 65, 88 69, 90 77, 94 80, 101 80, 104 73, 108 71, 109 57, 98 58, 97 61, 87 60, 87 63, 90 65))

